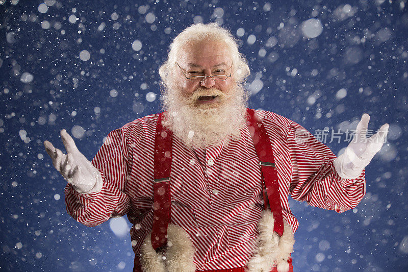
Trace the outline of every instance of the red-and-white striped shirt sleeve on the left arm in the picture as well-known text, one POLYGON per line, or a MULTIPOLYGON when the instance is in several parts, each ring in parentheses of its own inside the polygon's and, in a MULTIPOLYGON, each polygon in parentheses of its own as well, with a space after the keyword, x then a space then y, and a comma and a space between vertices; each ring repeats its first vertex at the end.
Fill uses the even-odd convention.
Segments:
POLYGON ((99 192, 81 194, 70 184, 65 187, 65 206, 75 220, 94 227, 129 212, 130 197, 124 192, 129 169, 126 142, 122 129, 112 131, 91 161, 103 179, 99 192))

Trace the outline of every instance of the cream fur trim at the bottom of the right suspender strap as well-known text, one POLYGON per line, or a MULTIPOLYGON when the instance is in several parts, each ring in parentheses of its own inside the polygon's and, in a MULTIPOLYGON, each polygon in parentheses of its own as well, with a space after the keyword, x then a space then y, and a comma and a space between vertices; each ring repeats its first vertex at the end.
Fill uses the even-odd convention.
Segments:
POLYGON ((274 266, 277 266, 278 272, 289 270, 288 260, 295 243, 292 228, 284 220, 284 233, 279 237, 273 226, 272 212, 266 209, 258 223, 257 249, 247 263, 247 272, 269 272, 274 266))

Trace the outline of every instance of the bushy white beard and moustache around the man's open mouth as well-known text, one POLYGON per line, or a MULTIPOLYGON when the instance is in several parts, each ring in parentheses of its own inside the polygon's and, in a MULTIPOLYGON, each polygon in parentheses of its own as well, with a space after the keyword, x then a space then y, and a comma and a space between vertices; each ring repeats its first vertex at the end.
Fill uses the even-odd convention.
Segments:
POLYGON ((227 145, 239 139, 246 123, 247 93, 241 85, 234 85, 225 94, 216 88, 198 88, 189 97, 181 90, 167 89, 163 95, 163 110, 167 111, 163 125, 188 147, 203 148, 227 145), (218 102, 197 105, 201 95, 217 95, 218 102))

